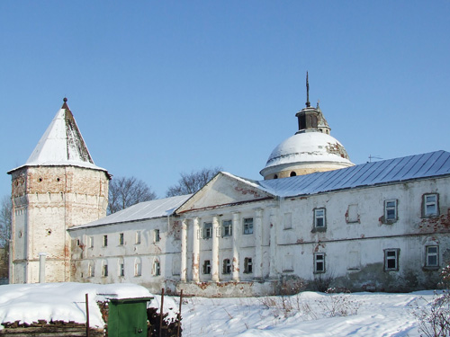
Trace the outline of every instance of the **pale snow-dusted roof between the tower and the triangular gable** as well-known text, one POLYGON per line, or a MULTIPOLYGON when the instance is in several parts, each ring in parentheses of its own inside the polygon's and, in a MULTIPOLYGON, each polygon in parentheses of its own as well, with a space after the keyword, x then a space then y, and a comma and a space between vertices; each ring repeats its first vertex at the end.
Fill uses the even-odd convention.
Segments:
POLYGON ((148 218, 171 216, 172 214, 174 214, 175 209, 179 208, 184 203, 184 201, 191 198, 191 196, 192 194, 188 194, 166 199, 139 202, 139 204, 122 209, 110 216, 103 217, 86 225, 73 226, 70 229, 103 226, 122 222, 138 221, 148 218))

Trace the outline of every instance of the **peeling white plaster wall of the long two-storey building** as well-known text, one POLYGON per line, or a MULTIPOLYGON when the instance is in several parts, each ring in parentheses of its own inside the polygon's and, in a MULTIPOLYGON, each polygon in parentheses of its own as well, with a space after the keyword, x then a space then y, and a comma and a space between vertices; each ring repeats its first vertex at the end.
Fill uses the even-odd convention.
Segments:
POLYGON ((186 295, 207 297, 280 294, 315 288, 315 279, 327 278, 330 287, 352 291, 434 288, 438 270, 426 267, 425 249, 427 245, 439 247, 441 266, 450 260, 449 191, 450 178, 424 179, 285 200, 239 202, 187 210, 179 217, 76 229, 70 235, 82 244, 72 245, 72 280, 132 282, 156 293, 161 288, 168 292, 183 289, 186 295), (437 217, 422 217, 427 193, 439 195, 437 217), (385 200, 397 200, 397 217, 392 222, 383 218, 385 200), (324 230, 314 229, 314 208, 326 210, 324 230), (247 217, 253 217, 254 229, 253 234, 245 235, 243 219, 247 217), (220 226, 224 220, 232 221, 233 235, 222 236, 220 228, 213 232, 215 237, 202 237, 205 222, 220 226), (153 242, 155 229, 160 231, 159 243, 153 242), (138 230, 141 243, 136 245, 138 230), (123 246, 117 244, 120 233, 125 237, 123 246), (108 235, 107 247, 101 246, 103 235, 108 235), (85 248, 88 236, 94 236, 93 248, 85 248), (385 249, 398 250, 398 270, 385 270, 385 249), (325 254, 324 273, 314 273, 314 253, 325 254), (245 272, 246 257, 253 262, 249 273, 245 272), (142 274, 136 277, 138 258, 142 274), (160 276, 154 275, 155 258, 161 263, 160 276), (183 259, 185 281, 181 281, 183 259), (225 259, 233 262, 236 272, 223 273, 225 259), (124 277, 118 276, 120 260, 125 263, 124 277), (202 272, 205 260, 216 263, 217 279, 212 272, 202 272), (109 266, 108 277, 101 275, 104 261, 109 266), (94 277, 86 276, 89 262, 94 265, 94 277))

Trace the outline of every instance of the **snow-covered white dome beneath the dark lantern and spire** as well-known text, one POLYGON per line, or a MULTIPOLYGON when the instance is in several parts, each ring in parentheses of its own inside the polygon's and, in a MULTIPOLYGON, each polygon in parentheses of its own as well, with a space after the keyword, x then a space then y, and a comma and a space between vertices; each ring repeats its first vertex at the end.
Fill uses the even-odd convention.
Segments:
POLYGON ((335 169, 353 166, 338 139, 321 132, 302 132, 275 147, 261 174, 266 177, 291 166, 300 168, 311 164, 325 164, 329 169, 332 169, 330 164, 335 169))

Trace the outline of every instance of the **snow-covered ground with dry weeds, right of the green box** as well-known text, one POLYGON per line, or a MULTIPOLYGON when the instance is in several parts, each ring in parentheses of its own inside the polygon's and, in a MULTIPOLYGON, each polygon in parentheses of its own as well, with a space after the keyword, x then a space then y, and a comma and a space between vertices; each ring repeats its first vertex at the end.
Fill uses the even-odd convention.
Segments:
MULTIPOLYGON (((293 297, 187 298, 183 336, 419 336, 411 311, 433 291, 410 294, 303 292, 293 297)), ((166 300, 166 299, 165 299, 166 300)), ((177 310, 177 309, 176 309, 177 310)))

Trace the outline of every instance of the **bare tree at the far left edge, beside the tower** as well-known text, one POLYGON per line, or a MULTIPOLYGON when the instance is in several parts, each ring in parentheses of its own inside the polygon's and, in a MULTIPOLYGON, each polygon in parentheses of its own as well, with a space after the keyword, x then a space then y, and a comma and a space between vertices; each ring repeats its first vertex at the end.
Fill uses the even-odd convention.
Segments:
POLYGON ((9 241, 11 240, 11 212, 13 203, 11 197, 5 195, 0 209, 0 278, 8 277, 9 241))

